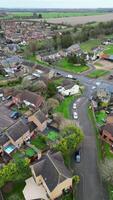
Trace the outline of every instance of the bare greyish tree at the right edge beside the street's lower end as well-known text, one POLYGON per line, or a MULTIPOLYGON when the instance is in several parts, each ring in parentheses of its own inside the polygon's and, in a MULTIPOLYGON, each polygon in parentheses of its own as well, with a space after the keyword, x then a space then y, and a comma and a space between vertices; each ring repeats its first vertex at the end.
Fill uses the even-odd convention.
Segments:
POLYGON ((113 185, 113 160, 106 159, 100 165, 100 172, 103 180, 113 185))

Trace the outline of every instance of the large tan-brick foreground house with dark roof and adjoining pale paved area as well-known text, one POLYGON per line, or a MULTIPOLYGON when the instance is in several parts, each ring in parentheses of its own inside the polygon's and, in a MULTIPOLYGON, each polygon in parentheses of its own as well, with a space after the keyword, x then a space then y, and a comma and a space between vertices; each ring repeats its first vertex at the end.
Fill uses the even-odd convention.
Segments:
POLYGON ((53 154, 48 152, 41 161, 31 166, 31 171, 36 185, 34 190, 32 188, 32 191, 30 191, 29 184, 26 181, 26 186, 23 190, 26 200, 54 200, 72 187, 72 174, 65 166, 60 152, 53 154), (34 192, 36 186, 37 188, 41 187, 40 193, 38 192, 39 189, 34 192))

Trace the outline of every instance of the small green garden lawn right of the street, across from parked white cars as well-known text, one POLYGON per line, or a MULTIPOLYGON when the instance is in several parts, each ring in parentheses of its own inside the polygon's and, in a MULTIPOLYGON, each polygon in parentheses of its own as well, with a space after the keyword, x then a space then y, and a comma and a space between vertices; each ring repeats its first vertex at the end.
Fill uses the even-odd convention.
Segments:
POLYGON ((95 114, 96 116, 96 122, 97 124, 99 124, 100 126, 103 126, 105 124, 105 120, 107 118, 107 114, 104 110, 96 112, 95 114))

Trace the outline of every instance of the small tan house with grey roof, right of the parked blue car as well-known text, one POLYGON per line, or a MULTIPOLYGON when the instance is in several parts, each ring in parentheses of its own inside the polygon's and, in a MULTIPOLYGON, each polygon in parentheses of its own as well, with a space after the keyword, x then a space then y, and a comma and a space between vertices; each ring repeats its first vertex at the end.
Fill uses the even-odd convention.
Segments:
POLYGON ((47 117, 41 110, 38 110, 36 113, 30 116, 28 120, 33 122, 37 126, 37 129, 41 132, 47 127, 47 117))

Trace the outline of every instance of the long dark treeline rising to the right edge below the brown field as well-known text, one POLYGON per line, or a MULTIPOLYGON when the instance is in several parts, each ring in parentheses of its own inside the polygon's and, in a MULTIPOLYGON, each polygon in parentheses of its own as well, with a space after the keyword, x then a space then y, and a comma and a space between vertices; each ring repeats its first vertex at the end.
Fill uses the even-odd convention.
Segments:
POLYGON ((73 31, 63 32, 61 35, 53 36, 55 49, 68 48, 73 43, 85 42, 91 38, 100 38, 105 35, 113 34, 113 21, 99 23, 97 25, 83 25, 79 28, 74 27, 73 31))

